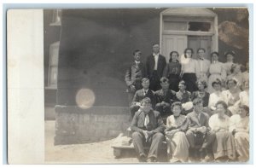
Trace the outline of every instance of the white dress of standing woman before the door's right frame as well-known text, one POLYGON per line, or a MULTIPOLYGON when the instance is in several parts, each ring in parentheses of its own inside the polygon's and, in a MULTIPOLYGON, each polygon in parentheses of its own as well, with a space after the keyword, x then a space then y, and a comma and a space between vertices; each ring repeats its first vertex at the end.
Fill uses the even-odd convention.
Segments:
POLYGON ((219 80, 226 79, 226 71, 224 69, 222 62, 212 62, 209 67, 210 76, 208 78, 208 92, 211 94, 214 90, 212 88, 212 82, 215 81, 217 78, 219 80))

